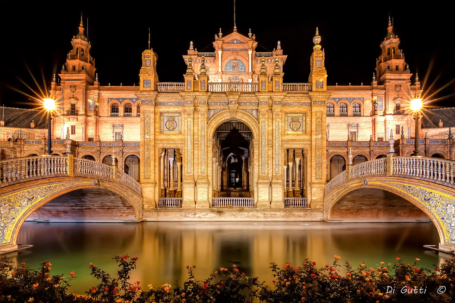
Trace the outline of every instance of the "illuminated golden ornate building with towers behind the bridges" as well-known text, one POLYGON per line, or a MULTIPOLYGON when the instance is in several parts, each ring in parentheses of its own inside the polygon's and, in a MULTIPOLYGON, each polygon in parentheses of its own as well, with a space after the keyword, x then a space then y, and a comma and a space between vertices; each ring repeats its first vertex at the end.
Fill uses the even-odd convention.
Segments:
MULTIPOLYGON (((371 85, 328 86, 317 31, 313 42, 305 83, 283 82, 279 41, 273 52, 257 52, 255 35, 234 29, 215 35, 213 52, 190 43, 183 82, 159 81, 149 42, 138 86, 102 86, 81 23, 52 82, 53 153, 118 165, 141 182, 146 209, 163 197, 182 198, 183 208, 209 208, 214 197, 283 208, 284 198, 295 197, 320 209, 326 182, 346 165, 384 156, 393 137, 397 153, 413 152, 406 109, 420 82, 411 81, 390 22, 371 85)), ((10 141, 2 142, 2 157, 44 153, 45 123, 14 135, 28 123, 3 125, 10 141)), ((422 151, 453 159, 451 137, 441 139, 422 139, 422 151)))

